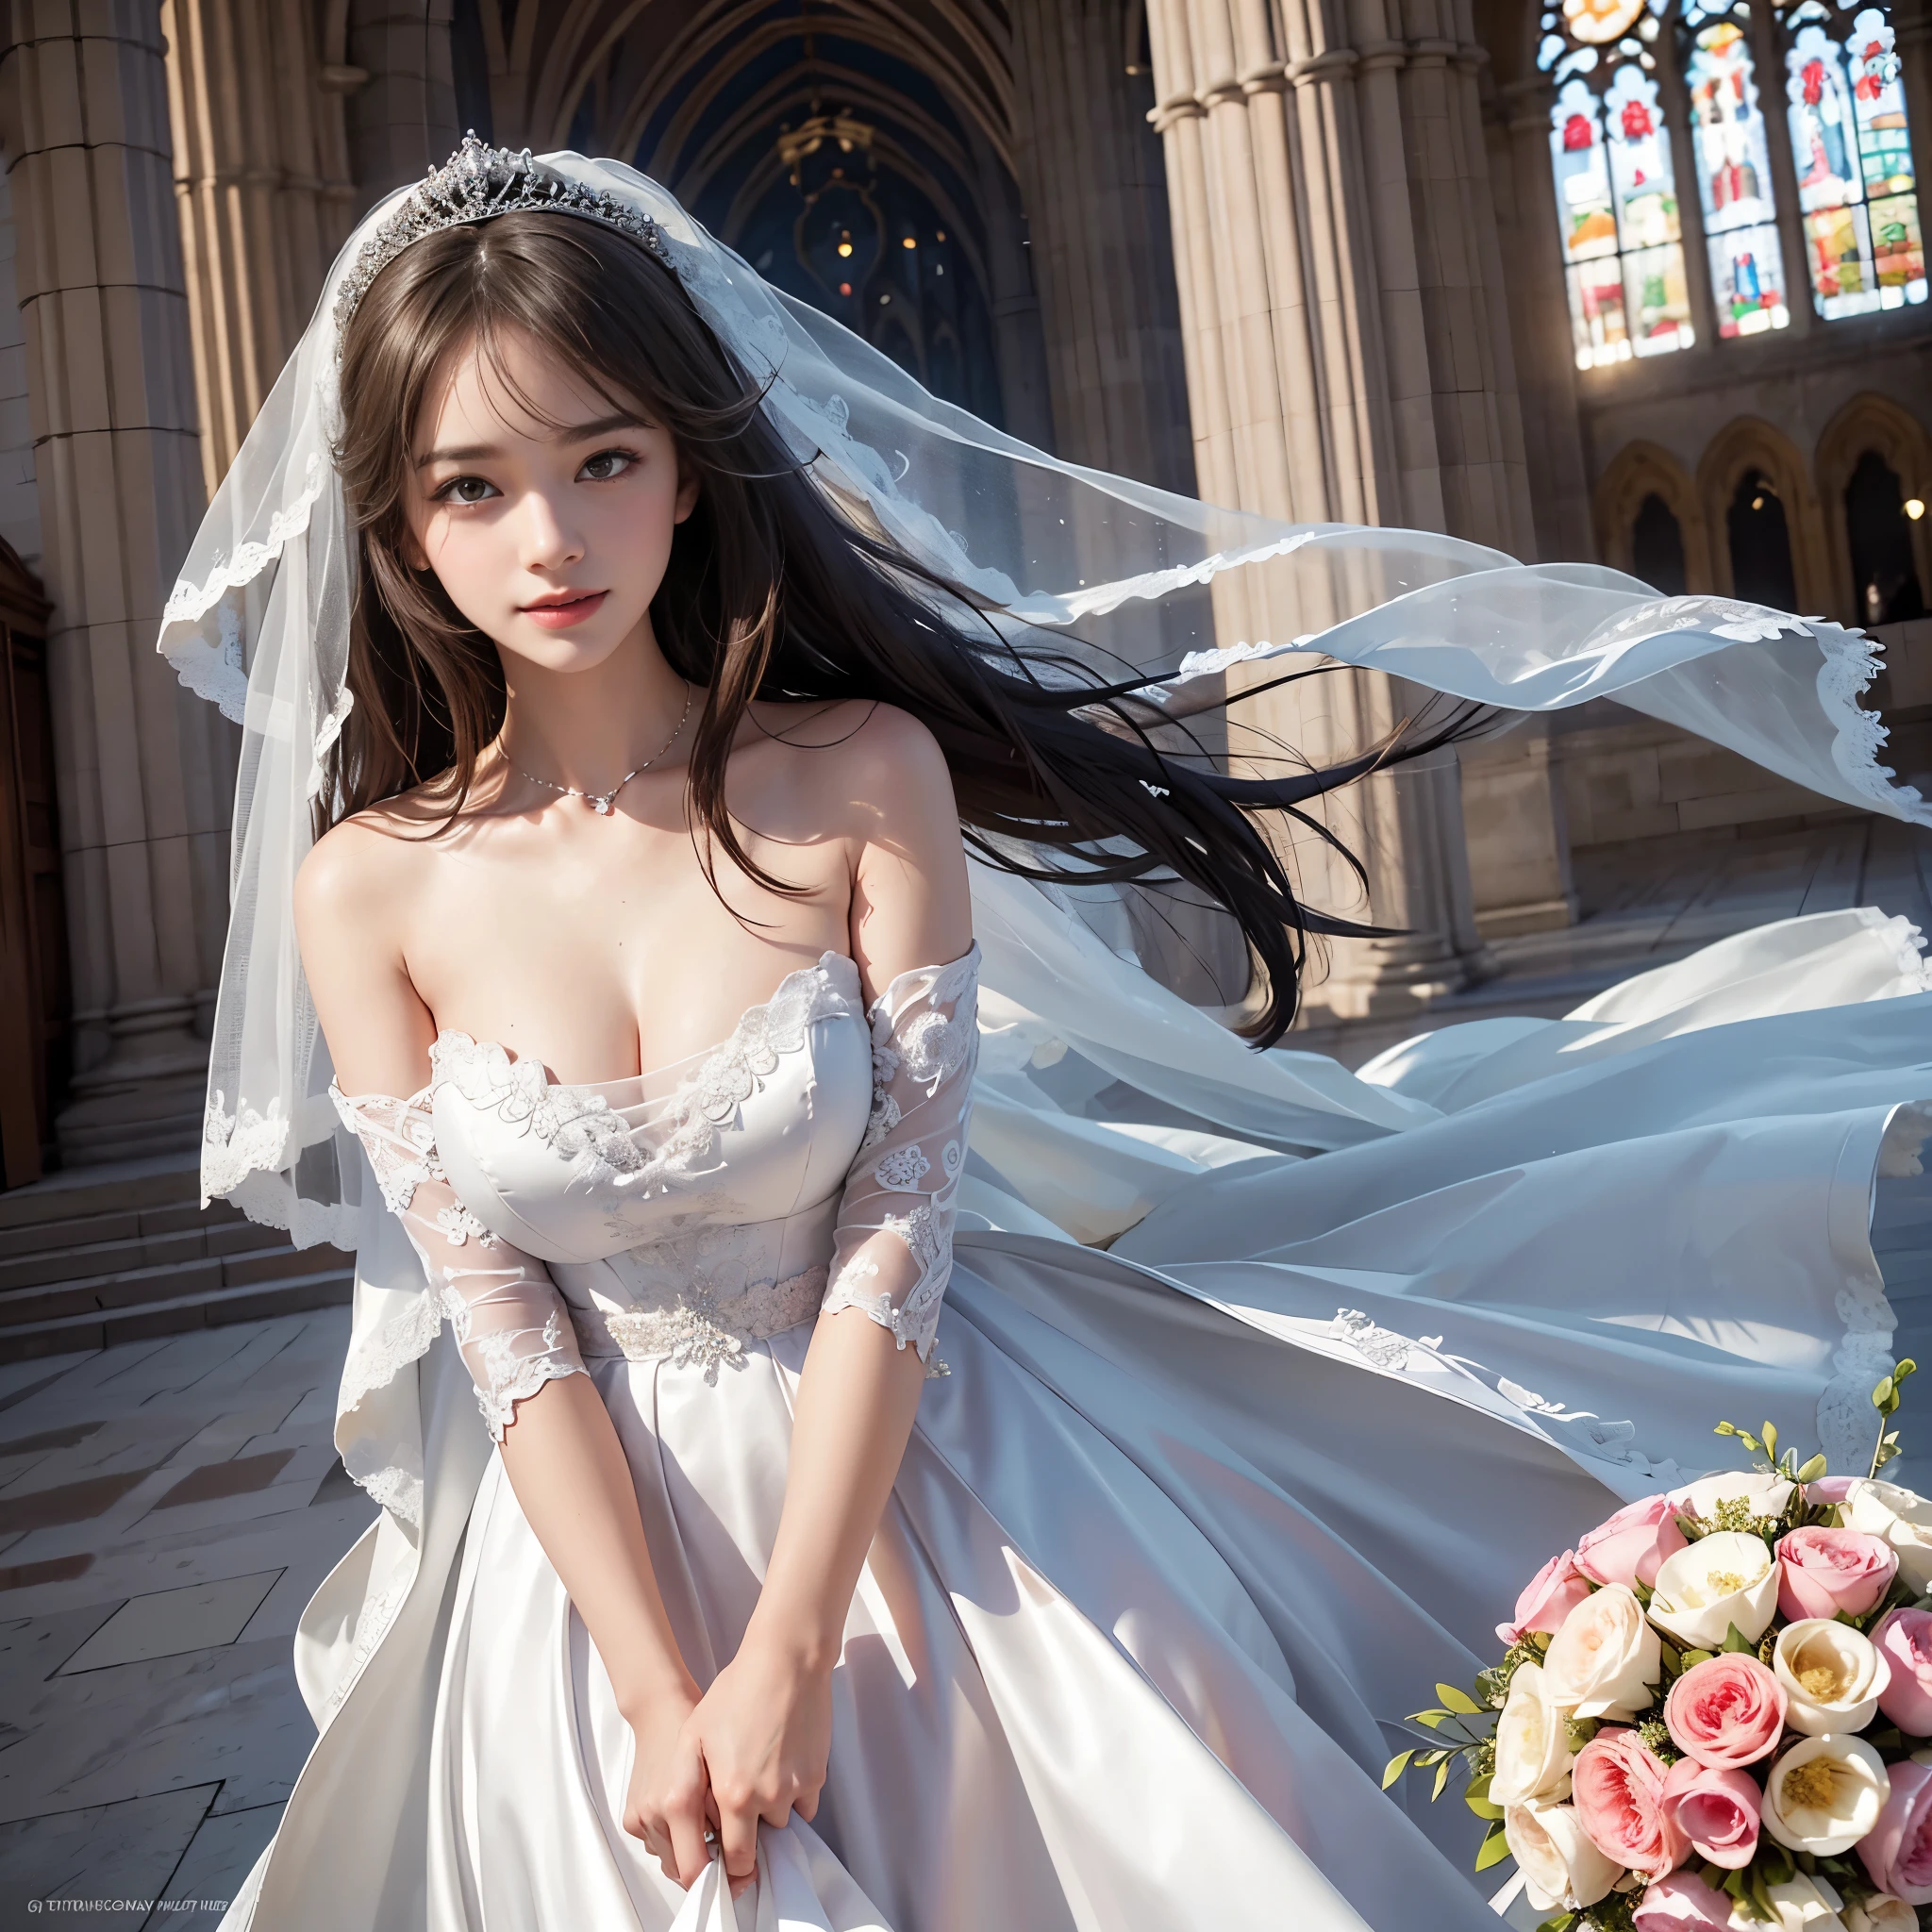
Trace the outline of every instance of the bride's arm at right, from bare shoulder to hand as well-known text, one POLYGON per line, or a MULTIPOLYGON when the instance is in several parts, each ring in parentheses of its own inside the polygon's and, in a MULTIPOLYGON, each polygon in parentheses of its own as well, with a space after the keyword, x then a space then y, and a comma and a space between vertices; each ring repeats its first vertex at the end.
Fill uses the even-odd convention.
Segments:
MULTIPOLYGON (((912 719, 875 713, 844 750, 840 775, 854 794, 852 954, 873 1001, 900 974, 970 951, 966 856, 945 759, 912 719)), ((964 1026, 972 1024, 968 1010, 964 1026)), ((947 1092, 949 1105, 956 1097, 947 1092)), ((854 1177, 881 1151, 869 1146, 854 1177)), ((937 1167, 937 1146, 931 1159, 937 1167)), ((848 1182, 848 1206, 869 1184, 848 1182)), ((866 1277, 866 1294, 831 1312, 835 1283, 829 1312, 819 1316, 798 1383, 765 1586, 736 1658, 690 1719, 734 1895, 755 1872, 759 1818, 782 1826, 792 1810, 802 1818, 817 1810, 831 1748, 831 1671, 927 1372, 920 1350, 860 1302, 883 1296, 896 1308, 931 1271, 891 1229, 848 1248, 842 1240, 838 1277, 866 1277)))

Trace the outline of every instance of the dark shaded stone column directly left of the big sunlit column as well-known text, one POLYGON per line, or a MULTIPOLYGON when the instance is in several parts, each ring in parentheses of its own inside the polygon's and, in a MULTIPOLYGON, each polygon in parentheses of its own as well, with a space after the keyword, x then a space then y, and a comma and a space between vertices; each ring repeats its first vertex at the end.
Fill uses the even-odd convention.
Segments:
POLYGON ((1014 164, 1057 454, 1188 489, 1180 317, 1121 0, 1014 0, 1014 164))

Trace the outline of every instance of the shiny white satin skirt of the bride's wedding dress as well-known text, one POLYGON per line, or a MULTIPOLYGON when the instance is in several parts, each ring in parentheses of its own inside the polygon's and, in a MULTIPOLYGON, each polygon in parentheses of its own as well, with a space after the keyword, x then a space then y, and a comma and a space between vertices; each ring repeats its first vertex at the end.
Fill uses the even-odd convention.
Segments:
MULTIPOLYGON (((757 1600, 810 1333, 715 1383, 593 1366, 699 1683, 757 1600)), ((1476 1820, 1381 1795, 1385 1719, 1478 1667, 1493 1565, 1528 1575, 1604 1490, 1490 1416, 1030 1236, 960 1244, 939 1350, 846 1625, 815 1824, 765 1833, 767 1917, 802 1888, 786 1926, 831 1932, 1493 1926, 1459 1876, 1476 1820), (1480 1577, 1453 1528, 1478 1509, 1480 1577)), ((431 1926, 761 1924, 759 1895, 688 1897, 624 1833, 630 1768, 493 1457, 437 1692, 431 1926)))

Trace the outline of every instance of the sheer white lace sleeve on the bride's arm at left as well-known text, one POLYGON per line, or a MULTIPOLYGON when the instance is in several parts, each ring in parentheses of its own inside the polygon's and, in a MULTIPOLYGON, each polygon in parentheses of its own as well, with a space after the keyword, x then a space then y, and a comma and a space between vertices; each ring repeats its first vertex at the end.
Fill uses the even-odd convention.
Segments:
POLYGON ((348 1095, 330 1086, 328 1095, 363 1144, 390 1213, 423 1258, 429 1294, 450 1320, 483 1420, 502 1441, 524 1397, 556 1376, 583 1374, 556 1285, 543 1262, 498 1240, 456 1198, 437 1159, 427 1090, 392 1099, 348 1095))

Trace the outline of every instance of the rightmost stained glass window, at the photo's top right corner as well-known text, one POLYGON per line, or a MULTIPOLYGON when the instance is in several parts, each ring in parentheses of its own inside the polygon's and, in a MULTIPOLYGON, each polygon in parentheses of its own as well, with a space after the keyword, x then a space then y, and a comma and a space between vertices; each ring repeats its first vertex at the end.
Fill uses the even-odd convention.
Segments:
POLYGON ((1891 21, 1822 0, 1785 15, 1785 99, 1812 301, 1826 321, 1926 299, 1905 89, 1891 21))

